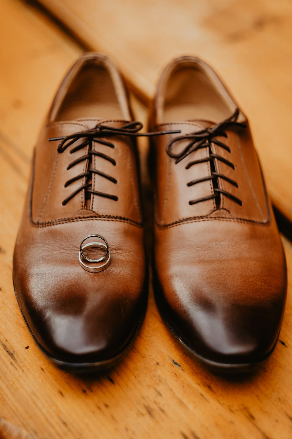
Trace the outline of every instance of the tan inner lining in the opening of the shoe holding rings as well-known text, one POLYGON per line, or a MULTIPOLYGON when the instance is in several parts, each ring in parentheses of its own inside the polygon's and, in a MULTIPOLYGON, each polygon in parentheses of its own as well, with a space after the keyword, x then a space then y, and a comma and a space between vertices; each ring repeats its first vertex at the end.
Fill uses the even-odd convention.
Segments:
POLYGON ((117 88, 119 86, 121 88, 121 81, 118 79, 120 78, 115 77, 106 63, 92 59, 85 61, 74 78, 69 81, 66 94, 56 108, 53 119, 56 121, 81 118, 128 120, 126 105, 122 105, 119 101, 121 90, 117 88))

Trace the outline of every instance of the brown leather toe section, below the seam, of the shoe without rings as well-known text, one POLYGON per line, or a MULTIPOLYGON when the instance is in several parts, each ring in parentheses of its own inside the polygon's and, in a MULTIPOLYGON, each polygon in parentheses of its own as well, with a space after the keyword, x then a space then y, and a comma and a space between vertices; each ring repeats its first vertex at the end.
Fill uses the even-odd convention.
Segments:
POLYGON ((159 309, 198 357, 222 364, 259 362, 274 348, 285 308, 287 273, 278 235, 267 227, 248 240, 248 227, 240 234, 241 226, 224 223, 224 245, 215 248, 216 223, 208 226, 208 245, 204 227, 199 222, 175 232, 157 230, 155 266, 164 268, 154 267, 159 309), (190 236, 196 237, 191 244, 190 236), (185 242, 192 257, 176 242, 185 242))

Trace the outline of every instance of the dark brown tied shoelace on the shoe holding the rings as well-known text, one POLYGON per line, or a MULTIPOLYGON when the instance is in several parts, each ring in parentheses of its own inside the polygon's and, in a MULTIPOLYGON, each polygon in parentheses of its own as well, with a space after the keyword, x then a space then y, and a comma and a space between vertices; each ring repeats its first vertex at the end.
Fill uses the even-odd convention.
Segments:
MULTIPOLYGON (((115 145, 112 142, 104 140, 105 137, 114 137, 114 136, 129 136, 129 137, 152 137, 152 136, 163 136, 165 134, 177 134, 180 133, 180 130, 170 130, 170 131, 158 131, 155 133, 139 133, 139 131, 143 128, 143 124, 138 121, 133 121, 124 124, 120 128, 115 128, 113 126, 107 126, 102 125, 98 123, 95 125, 94 128, 80 131, 78 133, 69 134, 68 136, 64 137, 51 137, 49 139, 49 142, 52 141, 60 141, 58 146, 58 153, 62 154, 67 148, 69 148, 71 145, 73 145, 77 140, 84 138, 85 140, 75 146, 71 149, 70 154, 74 154, 74 152, 79 151, 80 149, 89 146, 88 153, 85 155, 82 155, 81 157, 77 158, 76 160, 73 160, 68 166, 67 170, 71 169, 73 166, 77 165, 78 163, 84 162, 85 160, 88 160, 89 163, 92 163, 92 156, 95 155, 97 157, 101 157, 104 160, 107 160, 108 162, 112 163, 113 166, 116 166, 116 160, 109 155, 106 155, 99 151, 94 151, 92 149, 93 142, 99 143, 101 145, 105 145, 109 148, 115 148, 115 145)), ((78 174, 77 176, 71 178, 70 180, 67 180, 67 182, 64 184, 64 187, 70 186, 70 184, 74 183, 77 180, 83 179, 84 177, 86 180, 90 180, 92 177, 92 174, 96 174, 99 176, 102 176, 106 178, 107 180, 111 181, 112 183, 116 184, 117 180, 98 169, 93 169, 92 167, 89 167, 85 172, 78 174)), ((81 186, 77 187, 75 191, 73 191, 65 200, 63 200, 62 204, 66 205, 67 202, 71 200, 76 194, 78 194, 80 191, 85 189, 85 199, 89 199, 91 197, 91 194, 98 195, 99 197, 109 198, 114 201, 118 201, 118 197, 116 195, 112 194, 106 194, 104 192, 95 191, 92 189, 92 182, 82 184, 81 186)))

